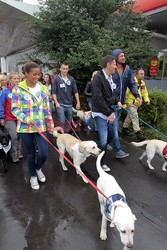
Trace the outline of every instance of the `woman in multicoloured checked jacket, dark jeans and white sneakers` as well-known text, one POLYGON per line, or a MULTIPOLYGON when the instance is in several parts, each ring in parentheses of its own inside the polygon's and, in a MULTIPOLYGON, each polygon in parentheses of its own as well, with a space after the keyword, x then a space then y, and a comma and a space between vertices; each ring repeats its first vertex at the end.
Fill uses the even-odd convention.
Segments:
POLYGON ((38 180, 46 181, 42 166, 48 156, 48 143, 40 133, 46 136, 46 130, 52 132, 54 123, 48 89, 38 81, 41 74, 39 65, 28 62, 24 65, 23 73, 26 79, 12 89, 12 113, 18 120, 17 132, 27 151, 31 188, 38 190, 38 180))

